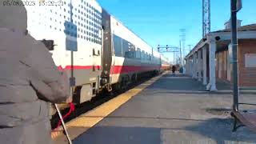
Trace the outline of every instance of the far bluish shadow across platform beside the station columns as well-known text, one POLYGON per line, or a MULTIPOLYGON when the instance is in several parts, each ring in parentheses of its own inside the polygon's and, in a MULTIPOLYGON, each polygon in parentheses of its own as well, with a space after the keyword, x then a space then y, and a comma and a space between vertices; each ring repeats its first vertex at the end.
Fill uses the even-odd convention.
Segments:
MULTIPOLYGON (((162 94, 233 94, 230 83, 217 81, 216 92, 206 91, 202 82, 185 74, 165 74, 146 90, 159 90, 162 94)), ((256 90, 240 90, 241 94, 256 94, 256 90)))

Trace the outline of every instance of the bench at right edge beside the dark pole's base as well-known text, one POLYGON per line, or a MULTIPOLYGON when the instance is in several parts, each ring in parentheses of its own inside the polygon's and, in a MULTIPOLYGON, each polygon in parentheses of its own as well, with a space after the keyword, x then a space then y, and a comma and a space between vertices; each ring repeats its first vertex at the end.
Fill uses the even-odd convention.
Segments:
MULTIPOLYGON (((239 104, 256 106, 256 104, 248 104, 248 103, 239 103, 239 104)), ((247 126, 250 130, 256 133, 256 111, 232 110, 231 116, 234 117, 233 132, 236 131, 240 126, 247 126), (238 122, 241 123, 242 125, 237 126, 238 122)))

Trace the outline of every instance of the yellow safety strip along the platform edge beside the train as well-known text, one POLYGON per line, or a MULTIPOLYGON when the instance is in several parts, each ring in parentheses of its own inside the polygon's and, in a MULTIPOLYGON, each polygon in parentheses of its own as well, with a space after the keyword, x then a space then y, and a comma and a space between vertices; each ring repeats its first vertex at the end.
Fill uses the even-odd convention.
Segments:
MULTIPOLYGON (((167 73, 167 72, 166 72, 167 73)), ((164 74, 166 74, 164 73, 164 74)), ((78 118, 66 123, 67 129, 71 127, 84 127, 85 130, 82 133, 86 132, 90 127, 96 125, 98 122, 102 121, 103 118, 106 118, 109 114, 117 110, 118 107, 122 106, 126 103, 130 98, 134 97, 136 94, 146 89, 147 86, 150 86, 159 78, 162 77, 163 74, 158 77, 151 78, 149 81, 142 83, 139 86, 136 86, 134 89, 126 91, 124 94, 118 95, 118 97, 111 99, 109 102, 103 103, 101 106, 94 108, 94 110, 90 110, 86 114, 82 114, 78 118)), ((54 131, 51 133, 51 137, 53 139, 58 138, 63 135, 62 131, 54 131)), ((70 134, 71 138, 74 139, 78 137, 80 134, 70 134)))

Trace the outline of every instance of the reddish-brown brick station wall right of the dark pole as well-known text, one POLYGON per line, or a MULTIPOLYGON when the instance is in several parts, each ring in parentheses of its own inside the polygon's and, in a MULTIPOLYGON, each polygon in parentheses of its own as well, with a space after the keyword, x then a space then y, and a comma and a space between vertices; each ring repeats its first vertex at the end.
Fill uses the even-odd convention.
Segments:
POLYGON ((246 67, 246 54, 256 54, 256 40, 238 41, 239 86, 256 86, 256 67, 246 67))

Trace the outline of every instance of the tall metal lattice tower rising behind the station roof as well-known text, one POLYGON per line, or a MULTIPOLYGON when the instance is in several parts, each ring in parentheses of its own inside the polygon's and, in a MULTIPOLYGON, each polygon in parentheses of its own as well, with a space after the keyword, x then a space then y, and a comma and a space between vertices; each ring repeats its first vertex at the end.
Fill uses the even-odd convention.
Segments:
POLYGON ((210 0, 202 0, 202 38, 210 33, 210 0))

